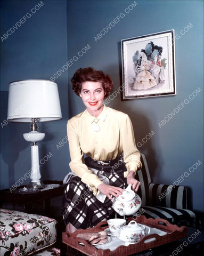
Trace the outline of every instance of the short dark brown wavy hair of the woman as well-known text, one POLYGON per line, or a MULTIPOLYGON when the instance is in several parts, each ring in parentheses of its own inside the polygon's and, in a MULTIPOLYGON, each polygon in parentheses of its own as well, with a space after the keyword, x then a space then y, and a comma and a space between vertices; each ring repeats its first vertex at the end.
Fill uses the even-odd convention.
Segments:
POLYGON ((95 70, 91 67, 79 68, 71 78, 72 89, 78 96, 81 92, 81 85, 87 81, 102 83, 105 92, 104 99, 108 97, 113 86, 111 77, 105 75, 102 70, 95 70))

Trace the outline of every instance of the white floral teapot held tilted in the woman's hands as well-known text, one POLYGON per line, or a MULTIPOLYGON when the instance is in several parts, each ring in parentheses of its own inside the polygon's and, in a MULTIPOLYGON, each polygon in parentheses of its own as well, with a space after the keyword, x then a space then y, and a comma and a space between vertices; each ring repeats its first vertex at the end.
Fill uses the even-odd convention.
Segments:
POLYGON ((123 191, 123 194, 115 197, 112 201, 113 209, 120 214, 120 216, 132 215, 140 209, 141 204, 142 200, 140 196, 132 190, 132 184, 129 184, 123 191))

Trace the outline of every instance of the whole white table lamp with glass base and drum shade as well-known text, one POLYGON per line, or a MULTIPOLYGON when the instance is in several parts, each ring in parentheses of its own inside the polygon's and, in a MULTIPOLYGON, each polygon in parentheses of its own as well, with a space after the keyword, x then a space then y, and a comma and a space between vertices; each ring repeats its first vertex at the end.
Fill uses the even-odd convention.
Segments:
POLYGON ((62 118, 58 85, 42 79, 29 79, 9 84, 9 102, 7 120, 10 122, 31 123, 31 131, 24 133, 25 140, 31 146, 31 182, 30 189, 41 189, 45 185, 40 181, 39 153, 37 141, 43 140, 45 133, 37 131, 37 122, 47 122, 62 118))

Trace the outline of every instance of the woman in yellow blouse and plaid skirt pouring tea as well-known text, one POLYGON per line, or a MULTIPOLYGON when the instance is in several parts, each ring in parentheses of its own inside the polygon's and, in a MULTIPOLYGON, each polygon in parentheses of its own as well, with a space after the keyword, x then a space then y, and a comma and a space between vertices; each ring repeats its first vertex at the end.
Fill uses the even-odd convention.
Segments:
POLYGON ((134 177, 141 169, 128 115, 103 105, 111 78, 101 70, 80 68, 71 83, 86 110, 67 123, 72 173, 64 179, 63 219, 70 233, 111 218, 112 197, 129 184, 137 192, 140 182, 134 177))

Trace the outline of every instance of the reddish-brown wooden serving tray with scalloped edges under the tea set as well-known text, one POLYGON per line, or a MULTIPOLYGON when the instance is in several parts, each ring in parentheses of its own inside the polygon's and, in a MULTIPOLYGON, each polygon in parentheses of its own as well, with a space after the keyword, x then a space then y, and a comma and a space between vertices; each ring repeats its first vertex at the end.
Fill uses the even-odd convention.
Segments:
POLYGON ((150 228, 160 229, 161 231, 165 231, 167 234, 163 236, 159 236, 158 234, 150 234, 143 237, 138 243, 130 244, 128 246, 119 245, 114 251, 110 251, 109 249, 97 249, 95 246, 87 243, 85 239, 76 237, 79 233, 97 233, 103 231, 108 227, 108 223, 107 221, 102 221, 93 228, 78 229, 72 234, 69 232, 63 232, 62 241, 68 246, 71 246, 89 256, 127 256, 157 247, 159 245, 167 244, 187 236, 187 227, 178 227, 176 225, 172 225, 164 219, 146 219, 143 215, 141 215, 136 219, 128 218, 127 222, 130 220, 136 220, 137 223, 149 226, 150 228), (151 240, 151 242, 147 242, 147 240, 150 238, 154 238, 153 241, 151 240), (83 245, 79 243, 82 243, 83 245))

